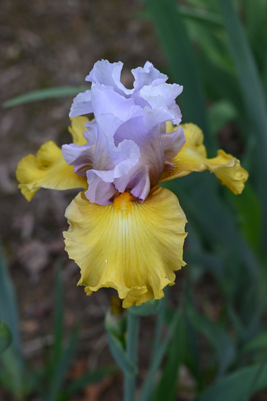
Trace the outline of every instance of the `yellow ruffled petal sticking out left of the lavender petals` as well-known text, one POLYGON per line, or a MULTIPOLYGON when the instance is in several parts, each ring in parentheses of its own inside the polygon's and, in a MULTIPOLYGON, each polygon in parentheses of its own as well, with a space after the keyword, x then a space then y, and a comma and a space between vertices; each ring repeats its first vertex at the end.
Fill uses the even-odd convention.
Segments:
POLYGON ((62 155, 61 149, 53 142, 46 142, 37 156, 23 158, 16 171, 23 195, 31 200, 41 187, 49 189, 87 188, 86 178, 74 173, 62 155))

